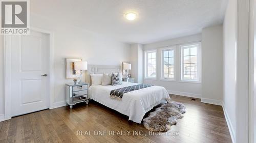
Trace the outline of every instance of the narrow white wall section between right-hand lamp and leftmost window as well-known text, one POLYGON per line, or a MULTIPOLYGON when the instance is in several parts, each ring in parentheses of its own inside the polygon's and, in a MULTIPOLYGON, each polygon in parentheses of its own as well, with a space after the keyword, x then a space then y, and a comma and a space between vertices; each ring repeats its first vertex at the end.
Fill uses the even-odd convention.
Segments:
POLYGON ((141 44, 131 45, 132 77, 138 83, 143 82, 143 46, 141 44))

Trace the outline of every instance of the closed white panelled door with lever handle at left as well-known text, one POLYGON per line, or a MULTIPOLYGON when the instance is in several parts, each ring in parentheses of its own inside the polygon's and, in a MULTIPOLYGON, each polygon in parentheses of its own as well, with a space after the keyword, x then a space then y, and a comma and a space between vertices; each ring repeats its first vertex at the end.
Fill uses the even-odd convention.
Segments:
POLYGON ((11 36, 12 117, 49 108, 49 65, 48 34, 11 36))

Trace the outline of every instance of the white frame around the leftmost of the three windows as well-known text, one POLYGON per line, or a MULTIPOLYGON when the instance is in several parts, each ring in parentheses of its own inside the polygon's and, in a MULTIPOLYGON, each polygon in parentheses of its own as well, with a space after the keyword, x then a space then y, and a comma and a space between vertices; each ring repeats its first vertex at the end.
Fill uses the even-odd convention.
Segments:
POLYGON ((145 50, 144 51, 144 79, 146 80, 157 80, 157 49, 152 49, 152 50, 145 50), (155 52, 156 53, 156 77, 148 77, 148 58, 147 58, 147 53, 152 53, 155 52))

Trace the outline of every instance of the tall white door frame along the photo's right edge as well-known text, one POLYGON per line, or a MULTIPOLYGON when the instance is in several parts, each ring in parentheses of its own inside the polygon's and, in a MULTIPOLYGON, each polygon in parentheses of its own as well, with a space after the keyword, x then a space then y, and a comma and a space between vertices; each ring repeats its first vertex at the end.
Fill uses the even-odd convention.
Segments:
POLYGON ((236 137, 234 142, 249 142, 249 2, 237 0, 236 24, 236 137))

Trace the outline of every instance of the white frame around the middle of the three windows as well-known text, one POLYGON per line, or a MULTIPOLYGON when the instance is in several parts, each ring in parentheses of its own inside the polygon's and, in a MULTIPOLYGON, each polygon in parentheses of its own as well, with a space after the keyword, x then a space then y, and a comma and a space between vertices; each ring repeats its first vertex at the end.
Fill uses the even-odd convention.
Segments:
POLYGON ((160 80, 163 80, 163 81, 176 81, 176 49, 177 47, 176 46, 168 46, 168 47, 164 47, 164 48, 161 48, 160 51, 161 51, 161 79, 160 80), (167 50, 174 50, 174 78, 166 78, 164 77, 164 51, 167 51, 167 50))

